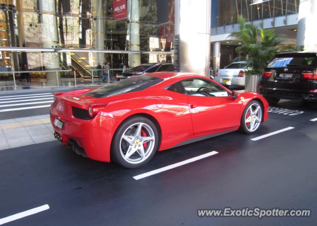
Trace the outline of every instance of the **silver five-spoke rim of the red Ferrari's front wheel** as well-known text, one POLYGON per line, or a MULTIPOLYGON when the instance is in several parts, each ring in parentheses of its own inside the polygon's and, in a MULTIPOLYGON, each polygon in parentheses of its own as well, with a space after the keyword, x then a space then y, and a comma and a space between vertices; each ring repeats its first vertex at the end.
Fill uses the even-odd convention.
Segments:
POLYGON ((262 108, 258 103, 251 104, 246 111, 245 125, 249 132, 256 131, 262 121, 262 108))

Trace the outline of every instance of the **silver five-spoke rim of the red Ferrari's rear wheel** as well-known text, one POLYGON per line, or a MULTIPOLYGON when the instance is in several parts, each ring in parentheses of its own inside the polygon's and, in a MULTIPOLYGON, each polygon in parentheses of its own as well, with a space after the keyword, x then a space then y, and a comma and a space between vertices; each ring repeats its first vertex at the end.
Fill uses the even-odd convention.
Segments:
POLYGON ((120 139, 120 153, 123 159, 131 164, 145 161, 151 155, 154 146, 154 131, 146 123, 131 125, 123 132, 120 139))

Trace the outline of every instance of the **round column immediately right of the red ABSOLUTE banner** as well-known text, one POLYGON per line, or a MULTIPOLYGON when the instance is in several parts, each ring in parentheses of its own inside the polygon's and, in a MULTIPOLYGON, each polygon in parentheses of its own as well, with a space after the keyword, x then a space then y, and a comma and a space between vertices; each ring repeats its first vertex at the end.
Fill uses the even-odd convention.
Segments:
MULTIPOLYGON (((140 24, 139 24, 139 0, 127 1, 128 35, 127 42, 129 50, 140 51, 140 24)), ((141 54, 129 54, 129 68, 136 67, 141 64, 141 54)))

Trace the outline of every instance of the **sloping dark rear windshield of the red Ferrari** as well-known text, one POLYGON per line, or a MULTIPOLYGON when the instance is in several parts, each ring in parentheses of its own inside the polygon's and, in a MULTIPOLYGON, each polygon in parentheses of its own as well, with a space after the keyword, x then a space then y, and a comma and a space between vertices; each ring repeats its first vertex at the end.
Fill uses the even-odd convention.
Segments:
POLYGON ((85 95, 97 98, 114 96, 128 92, 141 91, 158 84, 161 81, 163 81, 163 79, 159 77, 146 75, 133 76, 114 83, 110 83, 98 89, 94 89, 85 93, 85 95))

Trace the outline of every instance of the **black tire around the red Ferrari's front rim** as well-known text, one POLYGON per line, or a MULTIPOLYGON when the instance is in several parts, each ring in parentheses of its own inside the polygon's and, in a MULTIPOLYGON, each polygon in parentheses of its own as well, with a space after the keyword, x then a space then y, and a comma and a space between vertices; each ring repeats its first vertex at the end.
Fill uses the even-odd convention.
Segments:
MULTIPOLYGON (((250 114, 250 112, 249 112, 250 114)), ((252 116, 251 116, 252 118, 252 116)), ((259 101, 257 100, 252 100, 246 107, 245 109, 243 110, 243 113, 242 113, 242 116, 241 116, 241 119, 240 119, 240 128, 239 128, 239 131, 242 132, 242 133, 245 133, 245 134, 253 134, 255 133, 261 126, 261 123, 262 123, 262 119, 263 119, 263 108, 262 108, 262 105, 260 104, 259 101), (247 122, 246 122, 246 118, 249 118, 249 116, 247 115, 248 114, 248 111, 249 111, 249 108, 250 106, 253 107, 260 107, 260 109, 258 109, 258 113, 261 114, 260 115, 257 115, 257 119, 258 119, 258 122, 256 123, 256 128, 255 130, 252 130, 250 125, 247 126, 247 122), (248 117, 247 117, 248 116, 248 117), (250 130, 251 129, 251 130, 250 130)))

